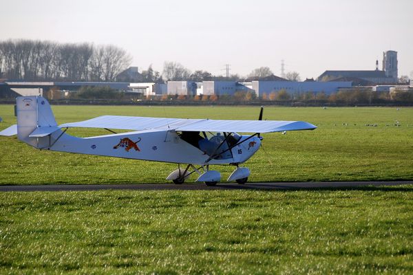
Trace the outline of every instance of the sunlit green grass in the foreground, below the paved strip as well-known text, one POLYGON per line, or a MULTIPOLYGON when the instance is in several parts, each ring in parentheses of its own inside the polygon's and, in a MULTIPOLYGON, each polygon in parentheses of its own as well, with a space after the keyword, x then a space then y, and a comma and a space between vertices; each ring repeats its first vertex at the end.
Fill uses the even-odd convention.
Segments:
POLYGON ((0 273, 412 274, 412 186, 0 193, 0 273))

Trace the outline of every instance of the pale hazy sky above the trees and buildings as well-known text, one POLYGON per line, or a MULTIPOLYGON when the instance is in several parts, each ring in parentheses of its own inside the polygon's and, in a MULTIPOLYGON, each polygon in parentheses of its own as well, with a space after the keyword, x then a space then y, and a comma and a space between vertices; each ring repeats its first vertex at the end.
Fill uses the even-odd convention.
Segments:
POLYGON ((246 75, 317 77, 326 69, 374 69, 396 50, 399 76, 413 71, 413 1, 2 0, 0 40, 41 39, 123 47, 132 65, 178 61, 246 75))

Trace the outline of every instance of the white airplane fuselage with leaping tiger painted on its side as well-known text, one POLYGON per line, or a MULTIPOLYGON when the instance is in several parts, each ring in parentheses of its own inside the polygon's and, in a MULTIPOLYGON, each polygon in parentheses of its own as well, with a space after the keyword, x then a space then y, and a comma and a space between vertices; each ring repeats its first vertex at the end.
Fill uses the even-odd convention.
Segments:
POLYGON ((87 155, 103 155, 127 159, 142 159, 156 162, 179 164, 238 164, 246 162, 260 148, 260 138, 249 135, 240 138, 240 144, 225 153, 211 159, 211 153, 202 151, 182 140, 174 131, 134 131, 97 137, 74 137, 56 131, 50 137, 41 137, 34 142, 36 148, 50 151, 81 153, 87 155), (59 137, 60 136, 60 137, 59 137), (245 142, 242 142, 246 140, 245 142))

